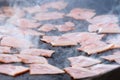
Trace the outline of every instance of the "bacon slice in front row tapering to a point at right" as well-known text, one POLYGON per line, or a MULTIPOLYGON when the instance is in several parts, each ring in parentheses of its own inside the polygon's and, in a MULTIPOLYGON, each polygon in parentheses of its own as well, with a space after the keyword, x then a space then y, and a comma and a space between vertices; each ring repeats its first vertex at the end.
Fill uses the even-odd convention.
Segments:
POLYGON ((30 74, 62 74, 63 70, 50 64, 31 64, 30 74))

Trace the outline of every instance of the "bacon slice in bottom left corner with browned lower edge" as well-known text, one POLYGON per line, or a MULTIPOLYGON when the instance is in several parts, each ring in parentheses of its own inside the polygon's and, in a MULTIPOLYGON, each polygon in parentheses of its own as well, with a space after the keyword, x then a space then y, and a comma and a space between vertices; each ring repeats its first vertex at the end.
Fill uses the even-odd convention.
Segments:
POLYGON ((10 76, 17 76, 27 71, 29 71, 29 68, 23 67, 23 66, 15 66, 11 64, 0 65, 0 73, 10 75, 10 76))

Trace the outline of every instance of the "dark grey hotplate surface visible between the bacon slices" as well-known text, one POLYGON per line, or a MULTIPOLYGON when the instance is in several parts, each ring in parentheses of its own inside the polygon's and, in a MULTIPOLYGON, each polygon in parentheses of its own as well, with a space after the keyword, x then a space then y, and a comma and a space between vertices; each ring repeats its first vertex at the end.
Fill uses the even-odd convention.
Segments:
MULTIPOLYGON (((0 6, 18 6, 18 7, 29 7, 35 5, 42 5, 48 2, 54 2, 58 0, 0 0, 0 6)), ((93 9, 96 12, 96 15, 102 14, 115 14, 119 17, 120 15, 120 1, 119 0, 64 0, 68 3, 68 6, 61 10, 60 12, 69 13, 71 9, 74 8, 88 8, 93 9)), ((51 10, 51 9, 50 9, 51 10)), ((69 32, 84 32, 88 29, 88 22, 84 20, 75 20, 73 18, 62 18, 58 20, 48 20, 43 21, 42 23, 52 23, 52 24, 62 24, 66 21, 72 21, 75 23, 75 30, 69 32)), ((47 35, 61 35, 64 32, 59 31, 50 31, 47 32, 47 35)), ((114 35, 113 35, 114 36, 114 35)), ((88 56, 85 52, 79 52, 76 50, 76 46, 70 47, 52 47, 51 45, 40 41, 41 37, 33 37, 33 43, 36 43, 39 48, 55 50, 55 54, 51 58, 48 58, 50 64, 58 67, 65 68, 70 65, 67 60, 68 57, 84 55, 88 56), (37 42, 36 42, 37 41, 37 42)), ((109 50, 103 52, 103 54, 95 54, 90 57, 99 58, 105 54, 111 54, 115 50, 109 50), (105 53, 105 54, 104 54, 105 53)), ((103 63, 115 64, 114 62, 108 62, 103 60, 103 63)), ((22 63, 15 63, 17 65, 25 65, 22 63)), ((111 72, 105 73, 103 75, 95 76, 92 78, 81 79, 81 80, 120 80, 120 69, 113 70, 111 72)), ((58 75, 29 75, 25 73, 16 77, 11 77, 7 75, 0 74, 0 80, 73 80, 68 74, 58 74, 58 75)))

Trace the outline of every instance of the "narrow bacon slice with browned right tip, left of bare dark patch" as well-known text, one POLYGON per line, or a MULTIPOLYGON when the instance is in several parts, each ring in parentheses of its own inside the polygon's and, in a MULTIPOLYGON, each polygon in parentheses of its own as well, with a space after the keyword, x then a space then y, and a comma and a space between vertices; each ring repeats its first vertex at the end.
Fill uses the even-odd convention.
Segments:
POLYGON ((25 49, 20 52, 23 55, 45 56, 51 57, 55 51, 47 49, 25 49))

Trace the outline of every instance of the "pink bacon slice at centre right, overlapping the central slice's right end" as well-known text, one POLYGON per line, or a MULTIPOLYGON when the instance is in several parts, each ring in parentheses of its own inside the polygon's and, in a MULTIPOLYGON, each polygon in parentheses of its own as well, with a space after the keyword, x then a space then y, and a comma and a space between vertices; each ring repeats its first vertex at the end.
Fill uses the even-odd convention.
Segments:
POLYGON ((96 33, 89 33, 89 32, 74 32, 74 33, 66 33, 62 35, 62 37, 68 38, 80 44, 89 41, 101 40, 104 36, 105 36, 104 34, 98 35, 96 33))

